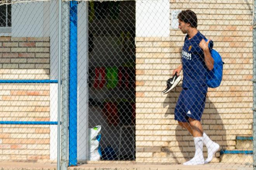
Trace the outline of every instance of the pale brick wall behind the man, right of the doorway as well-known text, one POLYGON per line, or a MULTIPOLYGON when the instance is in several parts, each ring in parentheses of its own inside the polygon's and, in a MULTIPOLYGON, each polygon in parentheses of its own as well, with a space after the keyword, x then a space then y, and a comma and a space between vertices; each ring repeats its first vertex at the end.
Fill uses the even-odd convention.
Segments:
MULTIPOLYGON (((252 135, 252 4, 222 2, 171 0, 170 10, 192 9, 199 31, 214 41, 225 62, 221 86, 208 89, 201 122, 211 139, 232 150, 236 136, 252 135)), ((174 121, 181 83, 166 95, 161 92, 181 63, 184 37, 178 29, 171 29, 170 37, 136 37, 137 162, 182 163, 194 156, 192 136, 174 121)))

